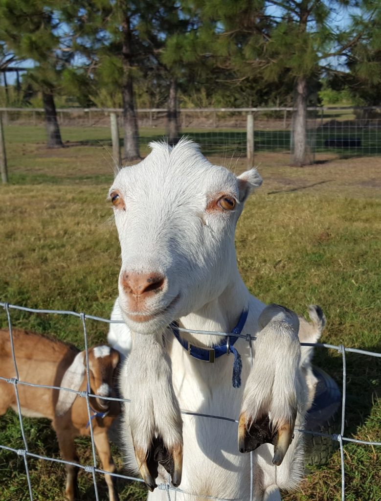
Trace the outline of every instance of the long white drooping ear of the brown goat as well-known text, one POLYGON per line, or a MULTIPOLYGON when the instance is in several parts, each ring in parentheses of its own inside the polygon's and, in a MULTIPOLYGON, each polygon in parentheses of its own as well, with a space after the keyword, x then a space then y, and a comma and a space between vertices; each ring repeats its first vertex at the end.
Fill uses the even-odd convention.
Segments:
MULTIPOLYGON (((85 378, 84 355, 85 353, 83 351, 77 354, 71 366, 66 370, 60 386, 62 386, 63 388, 70 388, 76 391, 80 389, 83 380, 85 378)), ((73 405, 76 397, 77 393, 61 389, 56 405, 56 414, 58 416, 63 416, 66 412, 68 412, 70 407, 73 405)))

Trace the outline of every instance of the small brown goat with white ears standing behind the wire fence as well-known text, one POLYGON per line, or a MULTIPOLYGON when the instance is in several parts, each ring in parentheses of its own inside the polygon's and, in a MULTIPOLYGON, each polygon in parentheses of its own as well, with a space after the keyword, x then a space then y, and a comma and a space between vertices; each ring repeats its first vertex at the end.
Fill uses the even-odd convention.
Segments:
MULTIPOLYGON (((76 391, 86 391, 86 353, 75 346, 21 329, 13 330, 19 380, 48 386, 61 386, 76 391)), ((114 376, 119 363, 119 353, 109 346, 89 349, 90 393, 101 397, 115 397, 114 376)), ((16 377, 10 334, 0 330, 0 376, 16 377)), ((90 435, 86 398, 72 391, 35 388, 18 384, 21 412, 28 417, 51 419, 57 433, 62 457, 78 462, 74 438, 90 435)), ((120 413, 120 404, 114 400, 90 397, 94 441, 102 467, 111 473, 115 465, 111 457, 108 429, 120 413), (97 414, 106 413, 104 417, 97 414)), ((0 415, 9 407, 18 412, 13 384, 0 380, 0 415)), ((66 497, 78 498, 78 467, 66 464, 66 497)), ((113 476, 105 475, 110 501, 118 501, 113 476)))

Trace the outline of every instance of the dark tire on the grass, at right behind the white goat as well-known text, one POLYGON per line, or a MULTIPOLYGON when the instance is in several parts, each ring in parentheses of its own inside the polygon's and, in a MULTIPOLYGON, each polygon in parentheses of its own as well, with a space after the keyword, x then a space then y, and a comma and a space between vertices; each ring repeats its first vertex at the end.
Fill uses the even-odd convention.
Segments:
MULTIPOLYGON (((339 433, 341 419, 341 392, 333 379, 322 369, 313 367, 317 377, 315 398, 306 415, 304 429, 318 433, 339 433)), ((337 449, 338 441, 330 437, 304 434, 305 462, 309 465, 326 464, 337 449)))

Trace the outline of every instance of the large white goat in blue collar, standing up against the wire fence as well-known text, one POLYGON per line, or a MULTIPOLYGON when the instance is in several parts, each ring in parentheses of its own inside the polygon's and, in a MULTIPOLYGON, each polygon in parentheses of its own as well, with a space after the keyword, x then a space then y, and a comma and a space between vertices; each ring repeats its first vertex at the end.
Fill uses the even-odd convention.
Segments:
POLYGON ((243 500, 250 498, 250 455, 242 452, 254 450, 254 499, 280 499, 279 489, 296 487, 303 473, 302 434, 293 438, 294 426, 303 426, 316 383, 299 325, 299 337, 316 342, 324 316, 312 307, 308 324, 281 306, 265 307, 242 282, 234 230, 262 182, 255 169, 236 177, 191 141, 151 148, 110 189, 122 250, 112 318, 127 325, 111 325, 109 339, 128 352, 131 335, 133 347, 120 377, 123 397, 131 399, 124 409, 127 454, 135 451, 151 500, 167 499, 154 491, 157 478, 166 482, 165 470, 173 485, 181 482, 181 499, 243 500), (252 369, 244 339, 179 335, 168 327, 174 320, 218 332, 238 324, 235 332, 257 337, 252 369), (181 415, 180 408, 239 417, 238 446, 234 422, 181 415))

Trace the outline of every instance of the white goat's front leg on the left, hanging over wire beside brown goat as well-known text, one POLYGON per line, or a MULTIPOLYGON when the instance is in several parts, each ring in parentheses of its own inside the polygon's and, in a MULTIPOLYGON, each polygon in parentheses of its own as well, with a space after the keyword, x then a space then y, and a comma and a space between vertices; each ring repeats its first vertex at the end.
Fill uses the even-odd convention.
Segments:
POLYGON ((180 485, 183 438, 180 408, 172 386, 172 371, 162 336, 133 334, 125 362, 122 393, 130 398, 126 417, 131 428, 140 473, 153 491, 159 463, 180 485))

